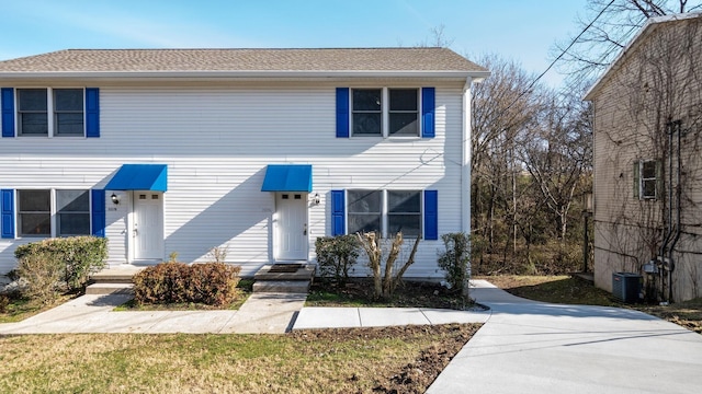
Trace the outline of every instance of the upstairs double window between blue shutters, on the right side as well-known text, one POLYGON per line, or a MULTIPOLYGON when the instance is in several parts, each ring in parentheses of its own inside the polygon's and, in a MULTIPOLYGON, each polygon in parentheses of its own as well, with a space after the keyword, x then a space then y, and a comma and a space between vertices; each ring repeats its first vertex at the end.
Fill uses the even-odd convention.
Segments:
POLYGON ((419 89, 353 89, 353 136, 417 137, 419 89))

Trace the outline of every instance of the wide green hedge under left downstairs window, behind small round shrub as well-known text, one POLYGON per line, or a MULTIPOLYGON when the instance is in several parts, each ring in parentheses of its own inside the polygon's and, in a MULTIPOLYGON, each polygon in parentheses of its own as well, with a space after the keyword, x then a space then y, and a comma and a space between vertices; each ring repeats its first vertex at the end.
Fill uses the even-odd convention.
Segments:
MULTIPOLYGON (((89 235, 48 239, 18 246, 14 256, 20 264, 27 257, 33 258, 33 266, 37 257, 47 258, 47 264, 58 264, 59 279, 66 283, 69 291, 76 291, 86 286, 91 273, 105 266, 107 239, 89 235)), ((19 274, 21 278, 26 279, 22 273, 19 274)), ((25 270, 24 274, 29 273, 25 270)))

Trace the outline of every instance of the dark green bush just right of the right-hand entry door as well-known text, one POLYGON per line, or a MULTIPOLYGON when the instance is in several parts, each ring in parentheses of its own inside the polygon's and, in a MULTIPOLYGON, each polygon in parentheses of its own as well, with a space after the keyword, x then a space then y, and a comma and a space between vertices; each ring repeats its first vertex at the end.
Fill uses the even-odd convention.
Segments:
POLYGON ((359 240, 355 235, 320 236, 315 242, 319 275, 337 283, 349 279, 349 269, 359 257, 359 240))

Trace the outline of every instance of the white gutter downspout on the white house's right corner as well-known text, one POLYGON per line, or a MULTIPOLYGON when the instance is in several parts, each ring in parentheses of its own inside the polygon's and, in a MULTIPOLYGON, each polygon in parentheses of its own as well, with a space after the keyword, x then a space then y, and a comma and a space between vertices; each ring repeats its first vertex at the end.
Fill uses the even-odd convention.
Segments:
POLYGON ((472 83, 473 78, 468 77, 463 86, 463 132, 461 141, 461 231, 468 235, 471 234, 471 161, 473 155, 471 150, 472 83))

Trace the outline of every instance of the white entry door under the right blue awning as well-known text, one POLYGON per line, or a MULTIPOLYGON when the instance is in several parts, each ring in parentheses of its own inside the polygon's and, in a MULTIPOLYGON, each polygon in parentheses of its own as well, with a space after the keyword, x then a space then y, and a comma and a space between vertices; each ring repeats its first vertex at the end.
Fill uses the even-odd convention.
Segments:
POLYGON ((275 258, 307 259, 307 194, 278 193, 275 196, 275 258))

